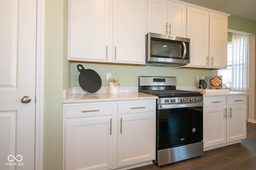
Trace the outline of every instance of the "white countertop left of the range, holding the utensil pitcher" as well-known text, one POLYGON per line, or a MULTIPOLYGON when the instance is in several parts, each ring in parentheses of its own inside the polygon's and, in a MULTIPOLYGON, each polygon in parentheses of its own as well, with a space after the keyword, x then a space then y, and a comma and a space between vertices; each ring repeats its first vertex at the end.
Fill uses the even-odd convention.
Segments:
POLYGON ((157 96, 139 92, 126 92, 119 94, 94 93, 94 94, 70 94, 63 103, 85 103, 85 102, 110 102, 122 100, 148 100, 158 99, 157 96))

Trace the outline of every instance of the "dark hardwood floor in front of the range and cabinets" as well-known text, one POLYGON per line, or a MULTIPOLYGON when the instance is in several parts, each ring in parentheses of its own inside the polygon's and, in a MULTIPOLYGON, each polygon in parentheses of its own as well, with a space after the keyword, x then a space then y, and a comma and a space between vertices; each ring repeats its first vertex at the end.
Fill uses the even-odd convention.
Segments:
POLYGON ((158 167, 155 164, 132 170, 256 170, 256 124, 247 122, 242 143, 205 151, 200 157, 158 167))

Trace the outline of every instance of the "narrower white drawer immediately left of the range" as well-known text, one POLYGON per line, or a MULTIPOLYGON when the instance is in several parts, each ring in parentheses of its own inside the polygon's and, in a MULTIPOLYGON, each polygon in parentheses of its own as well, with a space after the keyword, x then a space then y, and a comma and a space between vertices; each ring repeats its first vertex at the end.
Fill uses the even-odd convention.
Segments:
POLYGON ((118 102, 118 114, 140 113, 156 110, 156 100, 118 102))

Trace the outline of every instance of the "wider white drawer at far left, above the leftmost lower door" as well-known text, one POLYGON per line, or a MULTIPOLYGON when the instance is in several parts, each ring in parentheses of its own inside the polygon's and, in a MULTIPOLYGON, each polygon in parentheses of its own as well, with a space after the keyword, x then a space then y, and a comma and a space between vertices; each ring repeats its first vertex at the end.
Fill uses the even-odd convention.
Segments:
POLYGON ((112 115, 113 103, 67 104, 63 106, 65 118, 112 115))

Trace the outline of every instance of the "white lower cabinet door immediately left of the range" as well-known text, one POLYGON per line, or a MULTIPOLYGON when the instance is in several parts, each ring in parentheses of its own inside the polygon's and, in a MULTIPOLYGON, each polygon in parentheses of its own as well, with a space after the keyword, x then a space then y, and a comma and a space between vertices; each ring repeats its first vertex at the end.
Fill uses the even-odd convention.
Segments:
POLYGON ((156 113, 118 116, 118 167, 154 160, 156 113))

